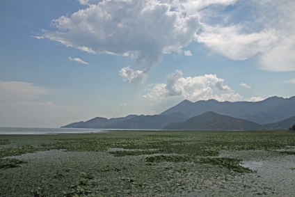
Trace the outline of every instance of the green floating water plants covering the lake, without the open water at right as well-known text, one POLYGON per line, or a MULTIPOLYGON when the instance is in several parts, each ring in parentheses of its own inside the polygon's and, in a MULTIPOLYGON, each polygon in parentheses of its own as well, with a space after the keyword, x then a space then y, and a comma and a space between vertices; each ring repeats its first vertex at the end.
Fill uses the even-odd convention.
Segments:
MULTIPOLYGON (((206 189, 209 186, 202 180, 211 178, 210 182, 214 182, 212 176, 224 180, 237 173, 253 172, 241 166, 239 159, 216 157, 219 152, 273 152, 286 145, 294 146, 295 132, 116 131, 0 135, 0 144, 3 145, 0 148, 0 196, 169 196, 168 191, 172 192, 170 196, 181 196, 183 188, 206 189), (109 152, 112 148, 119 150, 109 152), (49 152, 48 156, 45 152, 41 154, 44 158, 36 159, 29 155, 30 165, 3 158, 44 150, 57 153, 50 155, 49 152), (70 156, 64 159, 65 154, 70 156), (136 157, 138 155, 146 156, 136 157), (20 168, 12 168, 19 165, 20 168), (224 171, 225 168, 230 171, 224 171), (178 190, 180 193, 175 193, 178 190)), ((282 154, 294 155, 294 152, 282 154)))

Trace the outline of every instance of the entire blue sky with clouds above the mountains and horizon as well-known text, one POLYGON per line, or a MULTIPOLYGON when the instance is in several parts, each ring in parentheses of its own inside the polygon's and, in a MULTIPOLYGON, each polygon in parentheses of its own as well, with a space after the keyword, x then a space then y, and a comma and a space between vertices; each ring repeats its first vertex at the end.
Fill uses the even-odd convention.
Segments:
POLYGON ((0 0, 0 127, 295 95, 294 0, 0 0))

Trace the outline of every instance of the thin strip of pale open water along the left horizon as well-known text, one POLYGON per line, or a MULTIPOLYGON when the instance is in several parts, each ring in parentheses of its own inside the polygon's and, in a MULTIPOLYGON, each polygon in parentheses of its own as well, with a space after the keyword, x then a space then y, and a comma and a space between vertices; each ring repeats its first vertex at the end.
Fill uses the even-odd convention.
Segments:
POLYGON ((69 129, 69 128, 19 128, 0 127, 0 134, 83 134, 105 132, 102 129, 69 129))

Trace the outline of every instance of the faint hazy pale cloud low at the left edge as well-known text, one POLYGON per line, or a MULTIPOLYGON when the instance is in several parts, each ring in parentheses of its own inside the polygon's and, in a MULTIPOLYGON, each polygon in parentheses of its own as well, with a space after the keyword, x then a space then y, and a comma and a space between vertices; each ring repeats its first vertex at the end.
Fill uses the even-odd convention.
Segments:
POLYGON ((53 91, 22 81, 0 81, 0 102, 19 102, 35 100, 53 91))

